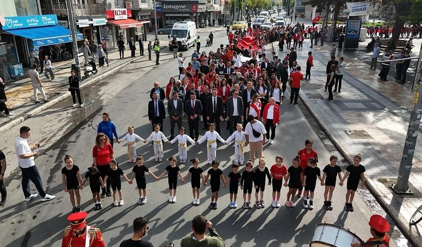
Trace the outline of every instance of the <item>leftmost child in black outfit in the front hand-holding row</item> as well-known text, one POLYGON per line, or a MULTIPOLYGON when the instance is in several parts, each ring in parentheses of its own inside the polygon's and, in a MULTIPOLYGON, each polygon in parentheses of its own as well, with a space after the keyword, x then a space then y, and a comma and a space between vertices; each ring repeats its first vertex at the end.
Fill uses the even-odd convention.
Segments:
POLYGON ((61 175, 63 179, 63 190, 68 192, 70 196, 70 202, 72 203, 73 209, 72 213, 80 212, 80 195, 79 189, 83 188, 82 178, 80 178, 79 167, 73 164, 73 159, 70 155, 64 156, 65 167, 61 170, 61 175), (79 187, 80 183, 80 187, 79 187), (75 196, 77 206, 75 205, 75 196))

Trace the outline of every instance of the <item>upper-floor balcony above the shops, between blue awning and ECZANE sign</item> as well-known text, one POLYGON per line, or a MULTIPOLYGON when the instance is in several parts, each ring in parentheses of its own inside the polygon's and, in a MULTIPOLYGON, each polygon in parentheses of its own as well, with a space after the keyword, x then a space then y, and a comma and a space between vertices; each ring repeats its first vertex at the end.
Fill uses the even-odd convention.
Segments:
MULTIPOLYGON (((103 3, 93 4, 72 4, 75 16, 94 16, 104 15, 106 7, 103 3)), ((41 4, 43 14, 55 14, 57 16, 67 16, 67 8, 64 3, 41 4)))

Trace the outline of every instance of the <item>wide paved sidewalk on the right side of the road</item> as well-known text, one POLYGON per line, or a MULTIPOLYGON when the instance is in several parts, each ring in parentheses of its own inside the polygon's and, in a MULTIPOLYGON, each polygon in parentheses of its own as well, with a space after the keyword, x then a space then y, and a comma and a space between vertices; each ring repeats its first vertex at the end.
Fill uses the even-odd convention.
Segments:
MULTIPOLYGON (((422 224, 416 227, 408 225, 413 212, 422 203, 421 152, 415 152, 409 180, 414 194, 396 195, 389 188, 397 178, 413 94, 407 86, 396 83, 390 76, 387 82, 379 81, 378 70, 368 70, 368 65, 360 58, 349 55, 351 51, 340 51, 337 57, 343 56, 346 62, 342 92, 334 93, 333 102, 326 101, 325 68, 330 47, 314 46, 310 49, 309 42, 305 40, 304 49, 297 51, 297 61, 303 73, 308 51, 312 50, 314 55, 312 79, 301 83, 299 95, 302 102, 349 163, 352 163, 353 155, 362 154, 367 187, 372 195, 389 212, 405 236, 415 246, 422 246, 422 224)), ((421 150, 421 144, 420 138, 416 150, 421 150)))

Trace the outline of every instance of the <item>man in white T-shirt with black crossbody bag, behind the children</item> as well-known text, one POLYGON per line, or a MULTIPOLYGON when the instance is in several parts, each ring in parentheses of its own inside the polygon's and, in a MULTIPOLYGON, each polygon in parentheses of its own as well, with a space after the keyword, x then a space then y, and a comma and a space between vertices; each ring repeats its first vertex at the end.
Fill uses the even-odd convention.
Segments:
POLYGON ((255 161, 255 150, 258 152, 258 158, 263 156, 263 145, 265 143, 265 126, 256 120, 253 115, 248 115, 248 123, 245 127, 245 147, 249 144, 249 157, 255 161), (256 132, 255 132, 256 131, 256 132), (254 132, 259 134, 255 137, 254 132))

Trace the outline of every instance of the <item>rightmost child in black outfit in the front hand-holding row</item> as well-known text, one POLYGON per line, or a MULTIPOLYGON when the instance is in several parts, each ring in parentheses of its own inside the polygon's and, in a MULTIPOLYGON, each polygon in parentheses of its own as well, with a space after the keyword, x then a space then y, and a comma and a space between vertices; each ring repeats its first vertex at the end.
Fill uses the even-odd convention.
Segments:
POLYGON ((355 197, 355 192, 359 186, 359 179, 362 179, 362 189, 365 188, 365 167, 361 163, 362 156, 361 154, 356 154, 353 157, 353 165, 349 165, 346 168, 346 173, 344 173, 343 179, 340 182, 340 185, 343 186, 344 180, 347 179, 347 193, 346 193, 346 203, 344 204, 344 209, 350 212, 353 212, 352 201, 355 197))

